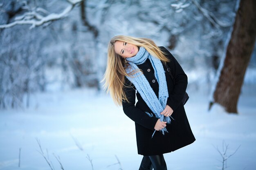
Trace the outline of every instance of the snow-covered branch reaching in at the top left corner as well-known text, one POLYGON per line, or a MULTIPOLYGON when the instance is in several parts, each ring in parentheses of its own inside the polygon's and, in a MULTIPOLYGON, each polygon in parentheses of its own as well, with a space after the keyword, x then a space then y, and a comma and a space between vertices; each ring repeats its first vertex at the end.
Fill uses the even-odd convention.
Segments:
POLYGON ((14 22, 11 22, 9 24, 2 24, 0 25, 0 29, 6 29, 10 28, 15 25, 25 25, 25 24, 31 24, 29 29, 33 29, 36 26, 43 25, 47 22, 52 22, 54 20, 59 20, 67 16, 67 14, 72 11, 72 9, 75 7, 76 4, 80 3, 82 0, 67 0, 67 2, 70 3, 68 7, 66 7, 63 12, 61 13, 50 13, 49 15, 43 16, 38 12, 41 13, 49 13, 45 9, 42 9, 40 7, 36 8, 34 11, 29 11, 24 13, 23 15, 20 15, 15 18, 14 22))

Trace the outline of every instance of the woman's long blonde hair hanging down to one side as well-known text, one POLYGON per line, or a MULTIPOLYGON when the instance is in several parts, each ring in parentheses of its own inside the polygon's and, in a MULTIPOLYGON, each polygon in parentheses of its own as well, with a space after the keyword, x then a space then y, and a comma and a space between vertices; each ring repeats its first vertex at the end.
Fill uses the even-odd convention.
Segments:
POLYGON ((125 68, 129 66, 129 64, 126 64, 124 62, 125 59, 115 53, 114 47, 116 41, 127 42, 138 47, 142 46, 146 51, 148 51, 148 53, 150 53, 150 55, 159 58, 164 63, 169 60, 165 56, 166 54, 157 47, 153 40, 124 35, 117 35, 113 37, 108 44, 107 68, 101 82, 105 80, 104 90, 107 91, 107 93, 110 92, 110 96, 114 100, 115 104, 121 105, 123 100, 129 102, 124 92, 124 76, 131 77, 133 74, 137 73, 137 71, 126 73, 125 68))

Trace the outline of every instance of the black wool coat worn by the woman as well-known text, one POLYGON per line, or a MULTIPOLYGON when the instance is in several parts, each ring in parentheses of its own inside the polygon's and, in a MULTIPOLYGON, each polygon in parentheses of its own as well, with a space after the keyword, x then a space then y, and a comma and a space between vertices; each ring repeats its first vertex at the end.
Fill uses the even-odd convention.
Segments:
MULTIPOLYGON (((188 83, 187 76, 173 55, 163 46, 160 46, 159 48, 167 53, 166 57, 170 60, 168 66, 170 66, 171 73, 175 78, 174 85, 171 76, 168 74, 168 71, 163 64, 169 94, 167 104, 173 109, 171 117, 175 119, 171 119, 171 124, 166 124, 168 133, 163 135, 162 132, 156 131, 153 138, 151 138, 158 119, 157 117, 149 117, 145 113, 153 113, 153 111, 150 110, 141 95, 136 93, 135 86, 125 77, 124 91, 130 103, 123 101, 123 110, 130 119, 135 121, 138 154, 144 156, 172 152, 195 141, 189 121, 186 117, 184 106, 181 102, 188 83), (136 105, 135 95, 138 100, 136 105)), ((147 59, 146 62, 137 66, 143 71, 150 86, 158 97, 159 84, 155 79, 154 69, 150 60, 147 59)))

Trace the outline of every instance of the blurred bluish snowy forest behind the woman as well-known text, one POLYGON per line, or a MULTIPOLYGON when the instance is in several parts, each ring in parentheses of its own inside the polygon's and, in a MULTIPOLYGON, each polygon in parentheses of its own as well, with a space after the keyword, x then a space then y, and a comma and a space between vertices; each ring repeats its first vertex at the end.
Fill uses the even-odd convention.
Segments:
MULTIPOLYGON (((99 82, 106 70, 108 42, 115 35, 151 38, 165 46, 188 75, 188 88, 209 93, 237 3, 0 0, 0 109, 29 107, 30 95, 38 91, 103 91, 99 82)), ((244 85, 255 82, 254 49, 244 85)))

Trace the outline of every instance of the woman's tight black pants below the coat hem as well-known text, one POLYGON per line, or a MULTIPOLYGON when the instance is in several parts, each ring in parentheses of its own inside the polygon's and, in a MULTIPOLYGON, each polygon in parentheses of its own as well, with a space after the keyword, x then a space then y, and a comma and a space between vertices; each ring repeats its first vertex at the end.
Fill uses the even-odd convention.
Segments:
POLYGON ((139 170, 167 170, 164 155, 144 156, 139 170))

